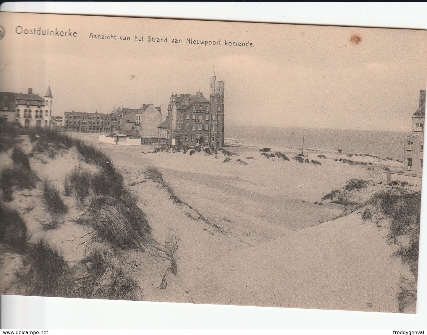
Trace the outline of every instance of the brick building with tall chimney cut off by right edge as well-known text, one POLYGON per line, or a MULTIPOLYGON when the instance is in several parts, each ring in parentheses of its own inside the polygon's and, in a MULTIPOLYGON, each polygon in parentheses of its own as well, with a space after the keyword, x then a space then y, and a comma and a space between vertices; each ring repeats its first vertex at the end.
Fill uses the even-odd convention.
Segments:
POLYGON ((424 153, 424 120, 426 91, 420 91, 420 103, 412 115, 412 133, 404 143, 404 173, 421 176, 424 153))

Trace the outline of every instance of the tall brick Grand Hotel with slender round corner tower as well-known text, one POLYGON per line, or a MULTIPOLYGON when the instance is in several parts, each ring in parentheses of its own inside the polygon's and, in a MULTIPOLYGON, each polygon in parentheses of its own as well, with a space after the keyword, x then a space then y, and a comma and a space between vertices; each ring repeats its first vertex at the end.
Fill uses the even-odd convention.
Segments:
POLYGON ((209 100, 202 92, 172 94, 167 123, 168 144, 224 145, 224 82, 211 76, 209 100))

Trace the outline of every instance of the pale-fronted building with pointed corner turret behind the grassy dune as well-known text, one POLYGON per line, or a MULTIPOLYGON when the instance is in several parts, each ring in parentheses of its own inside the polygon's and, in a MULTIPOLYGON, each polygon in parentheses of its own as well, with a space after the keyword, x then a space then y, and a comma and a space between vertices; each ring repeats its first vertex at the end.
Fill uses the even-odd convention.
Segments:
POLYGON ((44 97, 32 93, 0 92, 1 117, 9 122, 18 122, 23 127, 50 127, 56 123, 52 117, 52 91, 47 87, 44 97))

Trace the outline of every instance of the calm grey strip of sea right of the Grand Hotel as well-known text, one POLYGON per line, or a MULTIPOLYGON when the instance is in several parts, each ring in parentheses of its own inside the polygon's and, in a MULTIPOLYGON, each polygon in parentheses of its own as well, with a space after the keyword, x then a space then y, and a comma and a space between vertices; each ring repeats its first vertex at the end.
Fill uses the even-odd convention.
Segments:
MULTIPOLYGON (((228 128, 227 126, 225 127, 228 128)), ((263 147, 283 146, 342 153, 360 153, 380 158, 403 159, 404 138, 410 132, 391 132, 352 129, 279 128, 270 126, 232 126, 225 134, 234 143, 263 147), (231 128, 231 129, 230 129, 231 128)))

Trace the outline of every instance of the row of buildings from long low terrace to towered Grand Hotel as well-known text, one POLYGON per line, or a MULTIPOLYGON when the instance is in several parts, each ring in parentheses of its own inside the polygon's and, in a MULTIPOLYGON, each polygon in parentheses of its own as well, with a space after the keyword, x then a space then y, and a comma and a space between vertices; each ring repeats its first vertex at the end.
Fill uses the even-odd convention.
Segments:
POLYGON ((163 121, 160 107, 143 104, 140 109, 114 107, 111 113, 64 112, 61 130, 108 133, 99 140, 115 144, 134 144, 133 140, 125 142, 123 136, 137 131, 140 144, 222 147, 225 85, 216 76, 211 76, 209 85, 209 100, 202 92, 172 94, 163 121))

